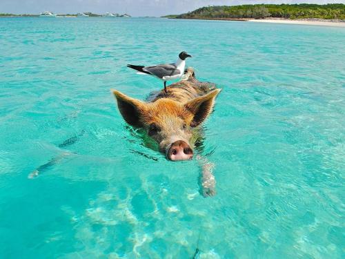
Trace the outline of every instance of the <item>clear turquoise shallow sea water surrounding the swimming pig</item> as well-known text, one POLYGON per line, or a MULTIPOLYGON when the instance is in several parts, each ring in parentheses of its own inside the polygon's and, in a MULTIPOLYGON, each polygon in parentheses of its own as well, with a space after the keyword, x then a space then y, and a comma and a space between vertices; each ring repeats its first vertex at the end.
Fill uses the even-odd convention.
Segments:
POLYGON ((0 19, 0 257, 191 258, 200 236, 201 258, 344 258, 344 42, 318 26, 0 19), (181 50, 223 88, 205 124, 214 198, 197 162, 128 131, 109 90, 144 99, 161 82, 126 64, 181 50))

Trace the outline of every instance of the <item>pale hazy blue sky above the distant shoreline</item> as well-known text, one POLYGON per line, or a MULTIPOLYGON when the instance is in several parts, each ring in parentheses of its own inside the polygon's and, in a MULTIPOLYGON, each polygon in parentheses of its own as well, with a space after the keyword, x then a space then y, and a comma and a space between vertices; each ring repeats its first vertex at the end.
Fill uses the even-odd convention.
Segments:
POLYGON ((0 0, 0 13, 56 14, 77 12, 128 13, 134 17, 176 15, 202 6, 235 6, 253 3, 345 3, 345 0, 0 0))

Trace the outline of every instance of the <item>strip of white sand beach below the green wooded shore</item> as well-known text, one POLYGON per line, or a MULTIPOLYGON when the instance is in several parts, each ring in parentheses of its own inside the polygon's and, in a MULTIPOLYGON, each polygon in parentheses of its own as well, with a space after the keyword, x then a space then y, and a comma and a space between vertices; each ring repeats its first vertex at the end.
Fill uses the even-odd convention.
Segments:
POLYGON ((333 26, 345 27, 345 21, 327 21, 318 19, 290 20, 290 19, 248 19, 256 23, 288 23, 288 24, 304 24, 315 26, 333 26))

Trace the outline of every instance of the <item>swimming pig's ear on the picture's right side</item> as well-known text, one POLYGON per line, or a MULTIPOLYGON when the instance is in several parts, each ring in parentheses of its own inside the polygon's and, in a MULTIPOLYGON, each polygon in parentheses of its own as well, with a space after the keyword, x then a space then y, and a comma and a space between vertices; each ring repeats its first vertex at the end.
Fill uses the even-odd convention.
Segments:
POLYGON ((215 97, 219 94, 221 89, 213 90, 207 95, 196 97, 184 104, 184 107, 193 113, 194 117, 190 126, 199 126, 211 113, 213 105, 215 104, 215 97))

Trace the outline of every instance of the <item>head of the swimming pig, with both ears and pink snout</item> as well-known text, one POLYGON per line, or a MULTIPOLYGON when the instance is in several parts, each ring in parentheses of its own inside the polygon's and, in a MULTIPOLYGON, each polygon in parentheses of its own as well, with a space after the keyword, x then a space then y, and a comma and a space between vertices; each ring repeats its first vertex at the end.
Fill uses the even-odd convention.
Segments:
POLYGON ((216 89, 186 103, 168 98, 146 103, 112 90, 126 122, 135 128, 143 128, 157 142, 159 151, 172 161, 193 158, 193 129, 211 113, 219 92, 220 89, 216 89))

